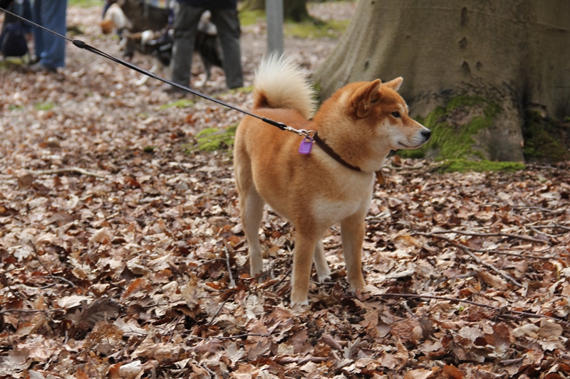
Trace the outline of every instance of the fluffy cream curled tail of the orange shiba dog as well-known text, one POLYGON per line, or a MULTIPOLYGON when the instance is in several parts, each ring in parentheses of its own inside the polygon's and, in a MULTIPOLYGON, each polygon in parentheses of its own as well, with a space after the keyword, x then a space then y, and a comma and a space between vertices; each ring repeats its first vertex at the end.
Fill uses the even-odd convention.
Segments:
POLYGON ((297 110, 306 119, 313 117, 314 90, 301 69, 289 57, 271 54, 261 60, 254 80, 254 109, 297 110))

